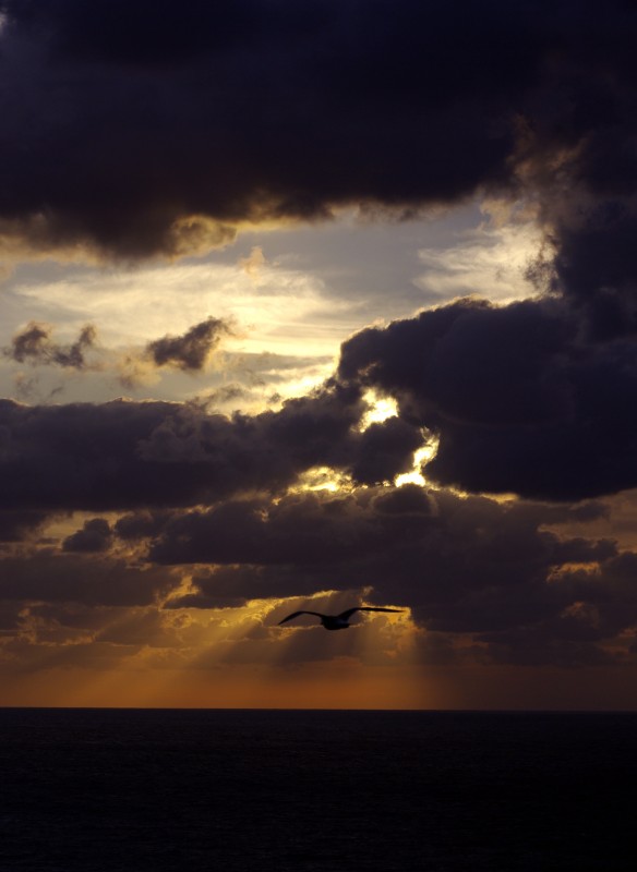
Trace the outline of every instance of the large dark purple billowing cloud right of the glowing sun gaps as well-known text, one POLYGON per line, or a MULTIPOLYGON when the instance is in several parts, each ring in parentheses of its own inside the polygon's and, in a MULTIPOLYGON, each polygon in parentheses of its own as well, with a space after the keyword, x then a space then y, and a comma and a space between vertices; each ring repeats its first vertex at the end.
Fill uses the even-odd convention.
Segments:
POLYGON ((637 344, 592 341, 560 300, 464 300, 342 346, 348 384, 440 437, 425 474, 470 492, 577 500, 637 485, 637 344))

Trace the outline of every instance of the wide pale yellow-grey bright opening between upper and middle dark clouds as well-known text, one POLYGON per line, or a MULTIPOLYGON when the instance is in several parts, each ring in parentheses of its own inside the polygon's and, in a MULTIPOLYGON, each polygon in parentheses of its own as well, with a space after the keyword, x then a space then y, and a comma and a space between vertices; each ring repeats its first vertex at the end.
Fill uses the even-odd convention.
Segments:
MULTIPOLYGON (((339 220, 250 231, 206 257, 136 268, 40 263, 17 267, 3 287, 0 347, 29 322, 58 342, 96 330, 84 372, 0 360, 3 396, 29 402, 181 400, 224 388, 221 411, 276 407, 334 370, 340 343, 371 323, 386 324, 467 294, 496 302, 534 289, 525 270, 541 239, 524 216, 504 222, 497 204, 394 225, 339 220), (202 372, 164 367, 122 386, 122 360, 206 318, 232 326, 202 372), (230 387, 241 390, 229 390, 230 387)), ((393 413, 376 401, 364 426, 393 413)))

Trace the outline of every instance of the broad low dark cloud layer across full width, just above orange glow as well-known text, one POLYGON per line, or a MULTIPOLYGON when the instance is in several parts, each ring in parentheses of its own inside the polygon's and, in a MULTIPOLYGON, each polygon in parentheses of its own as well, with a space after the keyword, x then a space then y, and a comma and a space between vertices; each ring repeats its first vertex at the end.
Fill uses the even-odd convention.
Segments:
MULTIPOLYGON (((254 618, 267 640, 290 601, 320 610, 365 601, 408 607, 421 640, 414 656, 430 664, 622 663, 637 620, 637 555, 556 532, 605 512, 593 502, 498 502, 406 485, 140 511, 112 526, 92 518, 59 547, 0 555, 0 601, 10 635, 20 627, 50 646, 83 633, 134 646, 147 631, 147 644, 196 651, 202 640, 188 642, 193 611, 269 601, 254 618), (106 549, 116 536, 128 559, 106 549)), ((299 633, 288 659, 325 657, 316 634, 299 633)), ((254 662, 259 651, 247 644, 237 656, 254 662)), ((69 652, 69 663, 80 656, 69 652)))

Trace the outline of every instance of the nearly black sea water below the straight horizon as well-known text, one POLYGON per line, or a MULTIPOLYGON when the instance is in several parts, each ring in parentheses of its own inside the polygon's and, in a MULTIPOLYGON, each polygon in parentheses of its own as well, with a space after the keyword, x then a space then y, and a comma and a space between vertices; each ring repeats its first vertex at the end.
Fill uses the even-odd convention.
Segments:
POLYGON ((7 872, 637 869, 637 714, 0 710, 7 872))

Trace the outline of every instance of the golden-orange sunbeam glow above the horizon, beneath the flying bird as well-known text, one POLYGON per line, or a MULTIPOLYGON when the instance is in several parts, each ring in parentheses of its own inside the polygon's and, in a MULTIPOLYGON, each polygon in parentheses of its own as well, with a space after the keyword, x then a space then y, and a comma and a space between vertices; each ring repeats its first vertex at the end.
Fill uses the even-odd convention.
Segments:
MULTIPOLYGON (((303 603, 311 607, 312 598, 320 597, 303 603)), ((287 602, 253 601, 220 611, 189 609, 192 620, 184 628, 181 650, 143 646, 105 669, 60 669, 51 664, 29 676, 27 685, 35 682, 44 704, 56 705, 420 707, 414 705, 422 697, 419 677, 411 658, 400 651, 401 628, 409 632, 407 610, 362 614, 360 623, 347 632, 329 633, 318 627, 279 628, 278 615, 271 616, 283 613, 287 602), (397 656, 388 654, 392 649, 397 656)), ((3 695, 15 704, 23 699, 11 681, 3 695)))

